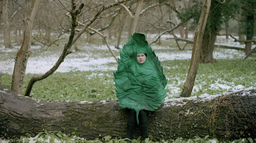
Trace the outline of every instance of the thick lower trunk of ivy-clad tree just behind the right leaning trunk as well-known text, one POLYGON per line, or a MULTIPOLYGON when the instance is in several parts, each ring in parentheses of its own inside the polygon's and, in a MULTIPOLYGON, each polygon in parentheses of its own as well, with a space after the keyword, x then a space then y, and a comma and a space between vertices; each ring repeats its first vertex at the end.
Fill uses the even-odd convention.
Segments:
POLYGON ((213 59, 213 49, 215 47, 214 43, 216 41, 217 35, 215 32, 205 33, 202 40, 202 48, 200 53, 201 63, 214 63, 213 59))

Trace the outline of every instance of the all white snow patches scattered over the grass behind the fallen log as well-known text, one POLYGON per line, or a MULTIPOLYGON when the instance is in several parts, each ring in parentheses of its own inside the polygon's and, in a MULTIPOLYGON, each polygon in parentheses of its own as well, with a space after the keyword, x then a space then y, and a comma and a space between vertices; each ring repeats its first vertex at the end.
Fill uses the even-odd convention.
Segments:
MULTIPOLYGON (((155 39, 157 34, 152 34, 147 36, 148 39, 155 39)), ((178 35, 177 35, 178 36, 178 35)), ((162 39, 165 38, 171 38, 172 36, 166 34, 162 36, 162 39)), ((193 35, 190 34, 189 38, 192 39, 193 35)), ((226 40, 225 38, 218 38, 217 40, 218 44, 225 44, 228 46, 240 46, 240 47, 245 47, 244 44, 240 44, 239 42, 233 42, 233 39, 226 40)), ((256 45, 253 45, 256 46, 256 45)), ((151 46, 152 49, 155 51, 156 55, 159 57, 160 61, 165 61, 165 60, 190 60, 191 59, 191 50, 182 50, 178 51, 175 49, 178 49, 177 47, 161 47, 161 46, 151 46), (168 50, 170 49, 170 50, 168 50), (162 52, 162 51, 166 52, 162 52), (175 52, 171 52, 172 50, 175 50, 175 52)), ((0 47, 0 51, 5 53, 2 54, 1 56, 4 59, 8 59, 5 61, 0 61, 0 73, 8 73, 12 74, 13 73, 13 67, 14 67, 14 59, 10 58, 10 53, 14 52, 16 53, 19 50, 19 46, 14 47, 13 49, 5 49, 4 47, 0 47)), ((108 49, 106 45, 89 45, 83 47, 84 49, 108 49)), ((39 46, 31 46, 32 50, 39 50, 39 46)), ((118 49, 115 49, 113 46, 111 47, 112 50, 119 51, 118 49)), ((108 52, 108 51, 107 51, 108 52)), ((43 74, 46 73, 48 70, 50 70, 55 62, 58 60, 59 56, 61 53, 58 54, 53 54, 49 51, 42 52, 41 55, 37 57, 30 57, 28 62, 27 62, 27 69, 26 73, 32 73, 32 74, 43 74)), ((104 53, 102 53, 104 54, 104 53)), ((110 53, 105 53, 105 54, 110 54, 110 53)), ((118 56, 119 57, 119 56, 118 56)), ((243 58, 244 53, 243 51, 238 51, 235 49, 220 49, 218 50, 215 49, 213 52, 213 57, 214 59, 235 59, 235 58, 243 58)), ((120 57, 119 57, 120 58, 120 57)), ((68 55, 64 62, 59 66, 56 72, 70 72, 70 71, 108 71, 108 70, 113 70, 115 71, 117 69, 116 64, 109 64, 109 63, 116 63, 116 60, 114 57, 100 57, 100 54, 95 54, 93 52, 75 52, 72 53, 72 56, 68 55)), ((178 68, 178 65, 174 67, 165 67, 167 69, 174 69, 178 68)), ((92 75, 93 76, 93 75, 92 75)), ((112 76, 112 75, 110 75, 112 76)), ((186 76, 186 75, 184 75, 186 76)), ((170 91, 170 95, 179 95, 181 92, 181 89, 177 87, 177 85, 180 85, 185 82, 183 79, 177 79, 178 83, 168 83, 167 88, 170 91)), ((230 85, 230 84, 229 84, 230 85)), ((242 85, 232 85, 232 86, 227 86, 225 84, 225 81, 222 79, 218 79, 217 81, 214 81, 214 83, 211 83, 209 88, 211 89, 240 89, 244 88, 242 85)), ((202 90, 201 85, 195 85, 193 88, 193 92, 202 90)))

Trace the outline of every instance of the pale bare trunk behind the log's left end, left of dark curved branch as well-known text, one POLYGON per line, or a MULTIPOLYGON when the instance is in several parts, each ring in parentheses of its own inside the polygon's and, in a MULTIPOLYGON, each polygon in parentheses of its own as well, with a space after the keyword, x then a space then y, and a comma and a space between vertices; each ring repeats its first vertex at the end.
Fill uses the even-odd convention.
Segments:
POLYGON ((27 60, 31 54, 30 45, 32 39, 32 26, 35 19, 35 14, 38 10, 41 0, 33 0, 30 13, 23 20, 24 23, 24 39, 21 48, 15 57, 15 65, 12 76, 11 90, 17 94, 22 94, 23 80, 26 73, 27 60))

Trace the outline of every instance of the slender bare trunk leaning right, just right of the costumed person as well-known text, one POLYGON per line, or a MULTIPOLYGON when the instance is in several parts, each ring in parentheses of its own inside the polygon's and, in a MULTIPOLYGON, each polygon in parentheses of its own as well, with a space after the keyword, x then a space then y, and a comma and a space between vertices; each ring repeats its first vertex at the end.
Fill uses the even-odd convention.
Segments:
POLYGON ((189 72, 180 95, 183 97, 189 97, 193 90, 194 82, 197 76, 197 68, 199 64, 202 38, 204 35, 205 25, 206 25, 208 13, 210 10, 210 3, 211 3, 211 0, 203 1, 201 16, 199 19, 199 23, 197 25, 197 31, 194 34, 194 43, 193 43, 193 50, 192 50, 191 61, 189 66, 189 72))

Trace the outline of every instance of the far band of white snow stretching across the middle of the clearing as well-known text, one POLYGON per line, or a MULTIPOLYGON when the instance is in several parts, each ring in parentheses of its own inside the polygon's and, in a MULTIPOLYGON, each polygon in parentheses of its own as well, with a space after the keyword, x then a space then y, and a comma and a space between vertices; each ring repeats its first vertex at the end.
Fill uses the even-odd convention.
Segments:
MULTIPOLYGON (((38 47, 32 47, 32 49, 37 49, 38 47)), ((94 47, 94 49, 106 49, 105 46, 94 47)), ((112 47, 114 50, 114 48, 112 47)), ((154 50, 154 47, 152 47, 154 50)), ((159 49, 157 47, 156 49, 159 49)), ((15 49, 5 49, 0 48, 2 52, 16 52, 15 49)), ((156 55, 159 57, 160 61, 164 60, 190 60, 191 50, 177 51, 173 52, 157 52, 156 55)), ((8 56, 2 55, 3 57, 8 56)), ((221 51, 215 51, 213 57, 215 59, 234 59, 242 58, 244 56, 242 51, 237 51, 235 49, 225 49, 221 51)), ((30 57, 27 62, 26 73, 43 74, 50 70, 55 62, 58 60, 58 54, 49 54, 49 56, 38 56, 30 57)), ((120 57, 119 57, 120 58, 120 57)), ((100 58, 98 55, 83 55, 82 53, 75 53, 73 56, 67 56, 65 61, 59 66, 56 72, 69 72, 69 71, 88 71, 88 70, 116 70, 117 65, 106 65, 108 63, 115 63, 116 60, 113 57, 100 58), (77 58, 74 58, 77 57, 77 58)), ((0 72, 1 73, 13 73, 14 59, 8 59, 0 62, 0 72)))

